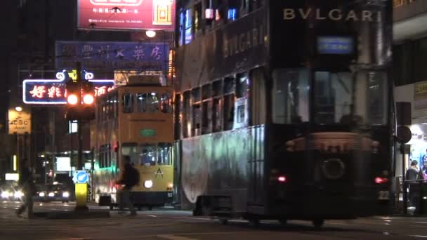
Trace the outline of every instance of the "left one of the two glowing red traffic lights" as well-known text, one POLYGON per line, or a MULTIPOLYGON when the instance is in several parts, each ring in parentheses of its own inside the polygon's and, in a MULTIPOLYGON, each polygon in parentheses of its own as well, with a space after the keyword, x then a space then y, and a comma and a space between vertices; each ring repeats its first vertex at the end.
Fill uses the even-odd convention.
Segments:
POLYGON ((78 120, 81 101, 80 84, 74 81, 67 81, 65 89, 65 98, 67 99, 67 112, 65 112, 65 119, 68 121, 78 120))

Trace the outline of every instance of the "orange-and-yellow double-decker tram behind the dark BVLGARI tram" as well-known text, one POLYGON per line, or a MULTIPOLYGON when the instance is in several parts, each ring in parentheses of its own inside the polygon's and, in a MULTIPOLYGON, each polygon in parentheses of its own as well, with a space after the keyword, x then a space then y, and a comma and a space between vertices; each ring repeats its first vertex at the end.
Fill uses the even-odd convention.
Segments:
POLYGON ((123 174, 124 155, 131 157, 140 173, 139 185, 131 189, 133 204, 151 209, 173 199, 173 88, 152 79, 129 77, 129 84, 96 101, 91 147, 95 156, 93 194, 100 206, 117 206, 120 186, 116 181, 123 174))

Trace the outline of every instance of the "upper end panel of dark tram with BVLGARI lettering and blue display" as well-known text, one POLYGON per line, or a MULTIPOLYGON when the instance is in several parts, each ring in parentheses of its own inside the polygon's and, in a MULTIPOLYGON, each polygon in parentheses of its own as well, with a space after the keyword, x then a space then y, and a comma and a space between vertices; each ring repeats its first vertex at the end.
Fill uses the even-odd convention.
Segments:
POLYGON ((391 0, 270 1, 273 65, 390 65, 392 14, 391 0))

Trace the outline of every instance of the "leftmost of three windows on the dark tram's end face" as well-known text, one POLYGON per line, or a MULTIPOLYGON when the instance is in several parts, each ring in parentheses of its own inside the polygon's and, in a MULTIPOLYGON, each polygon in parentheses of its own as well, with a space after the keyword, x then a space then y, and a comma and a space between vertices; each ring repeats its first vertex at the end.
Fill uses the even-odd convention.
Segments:
POLYGON ((299 124, 308 121, 308 70, 276 69, 273 81, 273 123, 299 124))

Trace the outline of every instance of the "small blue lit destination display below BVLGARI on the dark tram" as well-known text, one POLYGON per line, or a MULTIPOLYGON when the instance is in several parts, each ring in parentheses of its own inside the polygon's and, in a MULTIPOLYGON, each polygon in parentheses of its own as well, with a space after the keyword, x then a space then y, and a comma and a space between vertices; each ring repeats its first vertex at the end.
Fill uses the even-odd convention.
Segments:
POLYGON ((348 55, 354 51, 354 42, 350 37, 319 36, 317 37, 317 53, 348 55))

